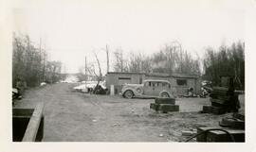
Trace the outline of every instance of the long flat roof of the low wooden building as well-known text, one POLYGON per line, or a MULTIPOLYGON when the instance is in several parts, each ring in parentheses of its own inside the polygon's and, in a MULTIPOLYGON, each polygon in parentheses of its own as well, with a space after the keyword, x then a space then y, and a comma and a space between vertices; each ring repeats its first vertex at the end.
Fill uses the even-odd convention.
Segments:
POLYGON ((180 78, 198 78, 197 75, 187 75, 187 74, 163 74, 163 73, 121 73, 121 72, 108 72, 109 74, 117 75, 145 75, 145 76, 160 76, 160 77, 180 77, 180 78))

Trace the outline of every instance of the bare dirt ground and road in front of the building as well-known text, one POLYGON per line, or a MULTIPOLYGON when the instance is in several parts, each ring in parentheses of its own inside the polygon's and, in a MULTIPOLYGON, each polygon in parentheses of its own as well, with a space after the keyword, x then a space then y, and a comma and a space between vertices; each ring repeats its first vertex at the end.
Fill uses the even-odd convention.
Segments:
MULTIPOLYGON (((17 108, 45 102, 43 142, 182 142, 181 131, 218 127, 230 114, 199 113, 209 98, 178 98, 180 111, 150 110, 153 99, 77 93, 76 84, 58 83, 28 90, 17 108)), ((193 142, 193 141, 192 141, 193 142)))

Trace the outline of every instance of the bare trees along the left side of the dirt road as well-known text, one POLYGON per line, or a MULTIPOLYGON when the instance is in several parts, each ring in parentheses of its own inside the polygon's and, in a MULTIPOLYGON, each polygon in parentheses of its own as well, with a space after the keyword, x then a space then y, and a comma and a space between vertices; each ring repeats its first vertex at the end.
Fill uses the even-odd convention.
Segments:
POLYGON ((18 80, 28 87, 41 82, 54 83, 62 78, 62 63, 47 59, 46 48, 31 42, 29 36, 13 33, 12 37, 12 86, 18 80))

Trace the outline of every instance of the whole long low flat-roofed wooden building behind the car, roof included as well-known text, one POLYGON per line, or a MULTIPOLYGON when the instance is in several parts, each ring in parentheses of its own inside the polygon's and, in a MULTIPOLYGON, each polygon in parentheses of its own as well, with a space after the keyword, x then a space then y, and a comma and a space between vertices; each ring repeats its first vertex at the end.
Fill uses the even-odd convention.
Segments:
POLYGON ((168 80, 174 88, 176 95, 187 94, 189 88, 192 88, 194 93, 200 93, 201 90, 201 80, 196 75, 109 72, 105 79, 106 87, 110 90, 110 85, 114 85, 115 93, 119 93, 125 83, 141 84, 145 79, 168 80))

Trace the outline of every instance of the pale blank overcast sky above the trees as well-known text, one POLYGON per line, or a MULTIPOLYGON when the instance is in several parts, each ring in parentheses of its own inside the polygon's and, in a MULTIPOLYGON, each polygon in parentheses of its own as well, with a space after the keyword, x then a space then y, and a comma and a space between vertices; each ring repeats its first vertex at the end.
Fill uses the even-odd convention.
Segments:
POLYGON ((149 56, 178 41, 202 58, 208 46, 244 41, 245 7, 240 0, 37 0, 13 5, 12 28, 37 44, 41 39, 49 59, 64 63, 64 72, 79 72, 85 56, 87 63, 96 63, 93 51, 105 72, 106 44, 113 67, 118 48, 125 57, 149 56))

